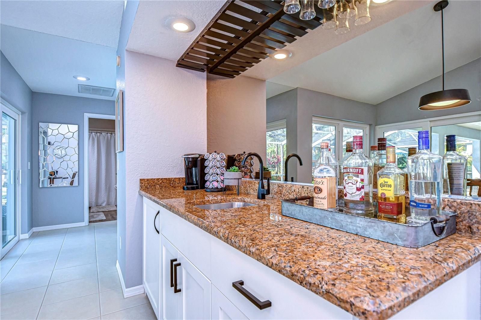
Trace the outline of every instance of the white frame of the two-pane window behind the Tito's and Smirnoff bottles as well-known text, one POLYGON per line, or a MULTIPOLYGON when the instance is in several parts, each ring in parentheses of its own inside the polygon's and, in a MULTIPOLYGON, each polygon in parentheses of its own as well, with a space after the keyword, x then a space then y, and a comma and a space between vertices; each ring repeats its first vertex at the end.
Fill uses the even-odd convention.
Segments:
MULTIPOLYGON (((367 123, 360 123, 355 121, 347 121, 347 120, 335 120, 331 118, 325 118, 322 116, 312 116, 312 124, 327 124, 336 127, 336 150, 334 157, 339 162, 342 160, 342 147, 343 147, 343 135, 344 135, 344 127, 354 128, 354 129, 361 129, 364 131, 363 136, 363 149, 364 154, 367 154, 367 149, 369 148, 369 124, 367 123)), ((312 124, 311 124, 311 145, 312 145, 312 124)), ((311 149, 314 146, 311 146, 311 149)), ((368 155, 368 154, 367 154, 368 155)))

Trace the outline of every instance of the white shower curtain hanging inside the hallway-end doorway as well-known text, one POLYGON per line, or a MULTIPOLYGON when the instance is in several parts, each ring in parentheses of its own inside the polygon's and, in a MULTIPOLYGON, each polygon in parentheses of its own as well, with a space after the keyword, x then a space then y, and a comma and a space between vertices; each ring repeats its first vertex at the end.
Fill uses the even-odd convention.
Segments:
POLYGON ((117 204, 115 135, 89 132, 89 207, 117 204))

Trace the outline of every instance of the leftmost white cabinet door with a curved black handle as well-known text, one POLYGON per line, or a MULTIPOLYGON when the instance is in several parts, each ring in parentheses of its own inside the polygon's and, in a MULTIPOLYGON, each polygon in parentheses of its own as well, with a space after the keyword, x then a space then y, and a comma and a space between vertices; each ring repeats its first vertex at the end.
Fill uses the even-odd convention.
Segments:
POLYGON ((160 206, 143 199, 143 279, 145 294, 149 297, 157 318, 160 310, 160 206))

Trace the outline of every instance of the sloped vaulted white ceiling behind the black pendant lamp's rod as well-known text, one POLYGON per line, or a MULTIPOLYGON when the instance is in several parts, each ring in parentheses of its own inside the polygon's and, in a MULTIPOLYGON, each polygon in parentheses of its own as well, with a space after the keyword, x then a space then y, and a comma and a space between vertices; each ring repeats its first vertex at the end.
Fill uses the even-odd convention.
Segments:
MULTIPOLYGON (((395 2, 412 1, 392 1, 386 7, 395 2)), ((378 104, 435 78, 442 74, 442 68, 441 13, 433 11, 434 3, 344 42, 269 81, 378 104)), ((444 10, 446 71, 481 57, 480 12, 481 1, 469 0, 450 1, 444 10)), ((446 78, 446 86, 456 87, 456 79, 446 78)))

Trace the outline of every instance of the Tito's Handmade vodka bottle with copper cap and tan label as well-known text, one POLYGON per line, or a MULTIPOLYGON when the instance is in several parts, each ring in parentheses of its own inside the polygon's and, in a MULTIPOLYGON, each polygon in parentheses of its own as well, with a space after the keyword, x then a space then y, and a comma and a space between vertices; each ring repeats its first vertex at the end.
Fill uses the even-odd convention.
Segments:
POLYGON ((319 164, 314 170, 314 207, 336 211, 339 209, 337 196, 338 172, 331 165, 328 148, 328 142, 321 142, 319 164))

